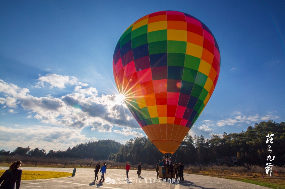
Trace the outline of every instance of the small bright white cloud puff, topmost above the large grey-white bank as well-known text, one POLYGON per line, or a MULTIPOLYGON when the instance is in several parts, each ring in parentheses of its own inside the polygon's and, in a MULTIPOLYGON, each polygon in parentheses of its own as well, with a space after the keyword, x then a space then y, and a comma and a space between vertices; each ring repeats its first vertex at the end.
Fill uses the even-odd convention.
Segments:
POLYGON ((78 82, 76 77, 69 77, 69 76, 62 76, 57 74, 46 74, 45 76, 39 77, 38 85, 42 85, 44 87, 44 83, 50 84, 50 88, 58 87, 60 89, 65 88, 65 84, 70 85, 82 85, 82 86, 88 86, 87 83, 81 83, 78 82))

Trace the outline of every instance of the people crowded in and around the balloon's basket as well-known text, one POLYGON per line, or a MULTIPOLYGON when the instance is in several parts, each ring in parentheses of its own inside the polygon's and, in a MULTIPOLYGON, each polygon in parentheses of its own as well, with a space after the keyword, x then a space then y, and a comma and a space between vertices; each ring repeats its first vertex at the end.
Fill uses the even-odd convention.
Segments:
POLYGON ((184 177, 183 177, 183 171, 184 171, 184 165, 182 164, 182 162, 180 163, 176 163, 176 164, 172 164, 170 157, 168 157, 168 155, 163 156, 162 160, 159 160, 159 162, 156 164, 156 168, 155 171, 157 172, 156 178, 158 178, 158 170, 159 167, 162 167, 162 177, 163 179, 166 178, 166 171, 168 171, 168 173, 171 173, 171 179, 173 179, 173 172, 175 172, 176 178, 179 179, 184 182, 184 177))

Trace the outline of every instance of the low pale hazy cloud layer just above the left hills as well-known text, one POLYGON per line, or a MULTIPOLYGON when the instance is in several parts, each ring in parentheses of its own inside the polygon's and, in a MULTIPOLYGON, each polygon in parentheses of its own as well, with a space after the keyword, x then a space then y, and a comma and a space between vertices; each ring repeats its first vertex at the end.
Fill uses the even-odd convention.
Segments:
POLYGON ((0 143, 5 149, 15 149, 18 146, 44 148, 49 151, 66 150, 79 143, 97 141, 81 134, 80 129, 67 127, 47 127, 36 125, 27 128, 9 128, 0 126, 0 143))

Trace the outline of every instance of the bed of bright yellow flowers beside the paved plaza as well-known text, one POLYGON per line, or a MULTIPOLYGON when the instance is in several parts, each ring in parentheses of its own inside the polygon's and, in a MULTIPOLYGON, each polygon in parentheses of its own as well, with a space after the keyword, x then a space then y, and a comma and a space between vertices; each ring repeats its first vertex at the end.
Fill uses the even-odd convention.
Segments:
MULTIPOLYGON (((5 170, 0 170, 0 176, 5 170)), ((34 179, 47 179, 47 178, 60 178, 70 177, 70 172, 55 172, 55 171, 23 171, 22 180, 34 180, 34 179)))

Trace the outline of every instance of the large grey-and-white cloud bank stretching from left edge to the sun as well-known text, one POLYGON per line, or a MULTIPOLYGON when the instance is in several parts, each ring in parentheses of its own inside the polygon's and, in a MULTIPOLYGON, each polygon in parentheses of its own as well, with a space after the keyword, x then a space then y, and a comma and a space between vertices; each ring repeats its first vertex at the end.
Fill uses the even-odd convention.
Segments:
MULTIPOLYGON (((126 106, 116 104, 116 95, 98 95, 98 91, 89 87, 75 87, 75 92, 58 98, 34 97, 27 88, 20 88, 0 80, 0 92, 3 105, 23 109, 34 113, 42 123, 65 127, 84 128, 92 126, 100 132, 111 132, 113 125, 119 127, 139 128, 126 106)), ((12 111, 12 110, 11 110, 12 111)))

